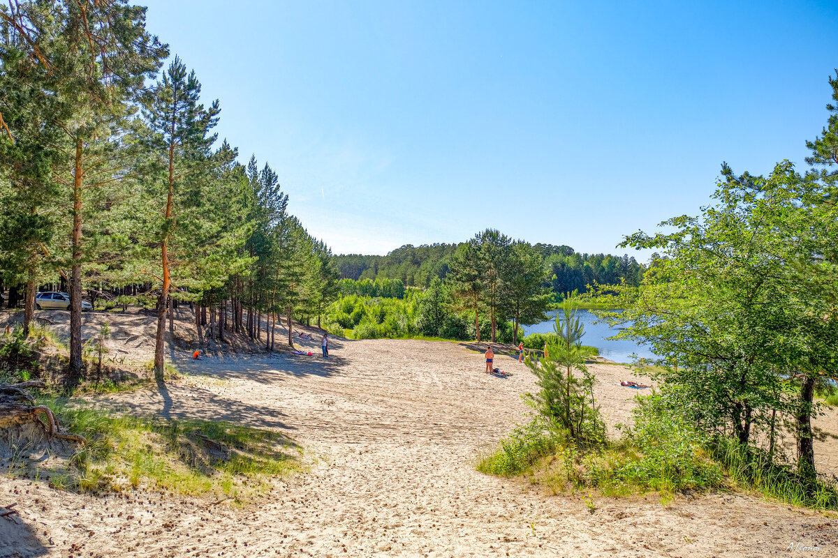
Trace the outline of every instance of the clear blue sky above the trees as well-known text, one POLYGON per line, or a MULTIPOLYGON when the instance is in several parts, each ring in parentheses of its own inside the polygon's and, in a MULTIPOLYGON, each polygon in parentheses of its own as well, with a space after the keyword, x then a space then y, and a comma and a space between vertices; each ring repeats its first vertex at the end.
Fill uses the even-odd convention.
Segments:
POLYGON ((624 253, 722 161, 804 166, 838 68, 836 2, 145 3, 334 253, 487 227, 624 253))

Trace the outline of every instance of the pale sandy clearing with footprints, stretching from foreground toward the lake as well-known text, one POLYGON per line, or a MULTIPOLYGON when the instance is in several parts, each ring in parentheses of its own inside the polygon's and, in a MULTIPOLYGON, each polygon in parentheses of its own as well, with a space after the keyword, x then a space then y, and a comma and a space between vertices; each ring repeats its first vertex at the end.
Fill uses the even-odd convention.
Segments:
MULTIPOLYGON (((282 429, 317 458, 311 473, 248 509, 143 492, 94 499, 3 478, 0 505, 16 499, 24 525, 9 533, 0 520, 0 556, 764 556, 784 554, 789 544, 820 548, 794 555, 838 550, 838 520, 752 497, 711 495, 669 506, 653 497, 597 499, 589 514, 579 494, 547 497, 517 480, 479 474, 478 448, 523 417, 519 394, 533 387, 533 376, 509 357, 499 364, 513 376, 499 379, 480 372, 481 355, 452 343, 333 341, 332 355, 197 363, 178 356, 181 371, 204 376, 101 400, 132 412, 282 429), (4 533, 28 542, 3 550, 4 533)), ((629 373, 592 368, 609 423, 623 422, 635 392, 613 383, 629 373)))

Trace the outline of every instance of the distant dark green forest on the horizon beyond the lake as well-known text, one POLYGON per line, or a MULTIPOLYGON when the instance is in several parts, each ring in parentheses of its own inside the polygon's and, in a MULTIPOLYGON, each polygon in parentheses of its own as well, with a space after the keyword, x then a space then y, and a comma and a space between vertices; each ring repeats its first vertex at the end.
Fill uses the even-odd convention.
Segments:
MULTIPOLYGON (((448 265, 459 244, 406 244, 386 256, 365 256, 357 253, 334 256, 341 279, 401 279, 408 287, 427 288, 433 278, 445 279, 448 265)), ((644 265, 628 254, 613 256, 604 253, 578 253, 570 246, 537 243, 535 251, 544 259, 551 288, 556 294, 578 290, 587 285, 626 284, 638 286, 644 265)))

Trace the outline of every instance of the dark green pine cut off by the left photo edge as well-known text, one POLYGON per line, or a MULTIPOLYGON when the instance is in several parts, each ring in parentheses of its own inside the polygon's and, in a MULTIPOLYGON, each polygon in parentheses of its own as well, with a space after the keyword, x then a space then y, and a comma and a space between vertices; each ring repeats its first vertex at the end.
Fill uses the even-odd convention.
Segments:
POLYGON ((32 321, 39 280, 53 264, 60 190, 53 169, 62 131, 44 58, 57 26, 45 3, 0 8, 0 265, 3 284, 26 285, 23 335, 32 321), (35 30, 41 29, 42 33, 35 30))

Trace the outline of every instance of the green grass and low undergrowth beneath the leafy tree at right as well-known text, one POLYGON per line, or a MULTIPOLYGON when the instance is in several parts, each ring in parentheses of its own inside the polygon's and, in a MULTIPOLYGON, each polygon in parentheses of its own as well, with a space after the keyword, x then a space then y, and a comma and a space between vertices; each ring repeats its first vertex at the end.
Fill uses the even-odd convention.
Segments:
POLYGON ((582 451, 536 422, 516 427, 497 448, 479 453, 478 471, 525 476, 553 494, 571 489, 605 496, 655 492, 662 503, 685 490, 742 490, 788 504, 838 510, 838 479, 801 478, 763 450, 708 438, 672 409, 644 398, 635 427, 617 442, 582 451))

